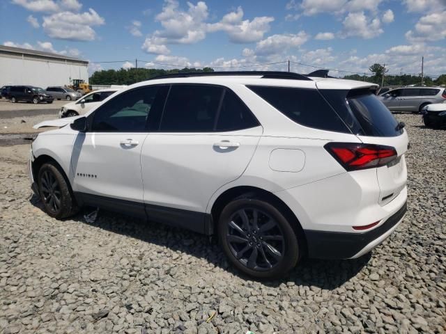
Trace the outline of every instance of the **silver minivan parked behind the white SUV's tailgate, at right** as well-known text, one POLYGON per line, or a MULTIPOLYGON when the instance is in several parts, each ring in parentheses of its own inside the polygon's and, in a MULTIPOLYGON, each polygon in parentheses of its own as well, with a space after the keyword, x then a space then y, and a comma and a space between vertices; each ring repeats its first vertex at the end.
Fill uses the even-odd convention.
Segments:
POLYGON ((442 87, 405 87, 389 90, 379 99, 390 111, 421 113, 427 104, 445 101, 446 92, 442 87))

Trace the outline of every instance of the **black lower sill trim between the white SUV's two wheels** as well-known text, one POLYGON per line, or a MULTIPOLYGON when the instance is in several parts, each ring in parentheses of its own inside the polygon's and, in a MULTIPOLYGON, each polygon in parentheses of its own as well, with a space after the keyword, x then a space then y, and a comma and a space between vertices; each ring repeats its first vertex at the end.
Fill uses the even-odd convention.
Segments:
POLYGON ((201 234, 212 235, 214 233, 212 216, 203 212, 174 209, 172 207, 121 200, 90 193, 74 192, 74 196, 79 206, 100 207, 112 212, 185 228, 201 234))

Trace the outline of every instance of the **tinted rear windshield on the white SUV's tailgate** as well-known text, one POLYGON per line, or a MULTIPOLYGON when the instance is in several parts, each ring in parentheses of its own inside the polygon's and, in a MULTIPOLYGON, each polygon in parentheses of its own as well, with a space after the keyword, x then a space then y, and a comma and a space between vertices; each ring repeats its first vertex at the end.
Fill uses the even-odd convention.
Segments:
POLYGON ((389 109, 368 89, 320 90, 353 134, 394 137, 403 130, 389 109))

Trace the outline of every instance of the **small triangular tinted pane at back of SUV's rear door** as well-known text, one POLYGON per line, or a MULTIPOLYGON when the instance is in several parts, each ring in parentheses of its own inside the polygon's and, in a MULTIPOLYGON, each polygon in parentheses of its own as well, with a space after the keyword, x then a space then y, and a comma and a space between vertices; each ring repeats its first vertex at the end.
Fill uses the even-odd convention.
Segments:
POLYGON ((216 131, 236 131, 257 127, 259 122, 236 93, 226 89, 220 107, 216 131))

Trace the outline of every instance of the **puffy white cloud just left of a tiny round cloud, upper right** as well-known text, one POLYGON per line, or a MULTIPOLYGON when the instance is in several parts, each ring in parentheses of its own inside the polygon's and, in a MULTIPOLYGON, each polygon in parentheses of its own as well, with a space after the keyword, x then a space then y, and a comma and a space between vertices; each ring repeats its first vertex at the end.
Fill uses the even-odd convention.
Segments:
POLYGON ((378 17, 374 19, 368 19, 364 12, 360 13, 348 13, 344 22, 344 29, 342 31, 343 37, 360 37, 360 38, 375 38, 383 33, 383 29, 380 28, 380 19, 378 17))

